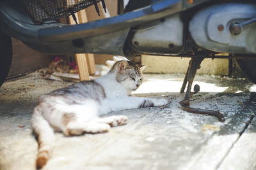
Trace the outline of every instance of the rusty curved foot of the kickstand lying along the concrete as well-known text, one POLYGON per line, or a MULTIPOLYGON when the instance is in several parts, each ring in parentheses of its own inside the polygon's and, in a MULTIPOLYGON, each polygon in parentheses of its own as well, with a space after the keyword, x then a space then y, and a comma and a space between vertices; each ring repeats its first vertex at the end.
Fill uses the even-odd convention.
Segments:
POLYGON ((203 115, 211 115, 214 117, 217 117, 220 122, 225 122, 225 118, 219 111, 214 110, 204 110, 199 108, 191 108, 189 105, 189 100, 184 100, 179 102, 180 106, 182 107, 182 110, 188 111, 189 113, 198 113, 203 115))

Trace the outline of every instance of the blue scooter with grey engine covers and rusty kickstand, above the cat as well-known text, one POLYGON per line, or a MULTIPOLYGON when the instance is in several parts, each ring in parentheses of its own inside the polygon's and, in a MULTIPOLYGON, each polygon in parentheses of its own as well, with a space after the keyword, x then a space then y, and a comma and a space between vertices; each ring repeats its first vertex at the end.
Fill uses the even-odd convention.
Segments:
MULTIPOLYGON (((118 0, 118 3, 121 1, 118 0)), ((130 0, 120 15, 85 24, 67 25, 59 17, 74 16, 100 0, 3 0, 0 3, 0 73, 2 84, 12 59, 11 37, 44 53, 100 53, 190 57, 180 92, 187 86, 182 109, 214 115, 218 111, 189 107, 196 69, 205 58, 235 59, 256 83, 256 3, 232 0, 130 0), (228 55, 224 55, 228 53, 228 55)), ((122 5, 120 5, 122 6, 122 5)), ((99 9, 98 9, 99 10, 99 9)), ((74 17, 75 18, 75 17, 74 17)))

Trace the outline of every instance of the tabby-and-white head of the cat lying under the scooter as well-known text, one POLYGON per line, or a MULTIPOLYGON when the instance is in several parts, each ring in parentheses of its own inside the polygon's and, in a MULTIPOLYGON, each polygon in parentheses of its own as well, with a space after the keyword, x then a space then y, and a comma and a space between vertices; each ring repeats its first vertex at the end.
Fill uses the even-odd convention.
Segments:
POLYGON ((129 91, 138 89, 142 83, 142 74, 146 66, 137 66, 127 60, 120 60, 114 64, 111 73, 116 74, 116 81, 129 91))

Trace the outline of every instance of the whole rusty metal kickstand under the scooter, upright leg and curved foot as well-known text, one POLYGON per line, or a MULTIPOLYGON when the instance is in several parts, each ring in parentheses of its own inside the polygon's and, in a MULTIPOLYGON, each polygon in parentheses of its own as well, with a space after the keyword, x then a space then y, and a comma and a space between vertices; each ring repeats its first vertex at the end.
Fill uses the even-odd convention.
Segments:
POLYGON ((192 94, 196 94, 200 90, 199 85, 195 85, 195 87, 194 87, 195 92, 191 92, 191 87, 192 87, 193 80, 195 78, 196 70, 200 68, 200 64, 201 64, 202 60, 204 60, 204 58, 200 57, 200 58, 192 58, 189 61, 188 71, 187 71, 186 76, 184 78, 182 87, 180 89, 180 93, 184 92, 187 83, 188 83, 188 87, 187 87, 187 91, 186 91, 184 100, 180 101, 179 104, 182 107, 182 110, 184 110, 184 111, 188 111, 190 113, 199 113, 199 114, 204 114, 204 115, 212 115, 212 116, 217 117, 220 120, 220 122, 225 122, 225 118, 223 117, 223 115, 219 111, 203 110, 203 109, 191 108, 190 107, 189 97, 191 97, 192 94))

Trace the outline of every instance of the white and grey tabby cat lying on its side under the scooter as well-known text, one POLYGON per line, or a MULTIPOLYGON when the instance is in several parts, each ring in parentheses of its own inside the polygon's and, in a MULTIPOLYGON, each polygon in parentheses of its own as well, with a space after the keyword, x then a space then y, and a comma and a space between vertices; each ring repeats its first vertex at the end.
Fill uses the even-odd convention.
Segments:
POLYGON ((120 60, 104 76, 80 81, 40 97, 31 118, 33 132, 38 136, 36 168, 41 169, 51 157, 54 131, 61 131, 65 136, 108 132, 110 127, 126 124, 127 117, 101 118, 100 115, 167 104, 163 98, 131 96, 142 83, 144 69, 145 66, 120 60))

